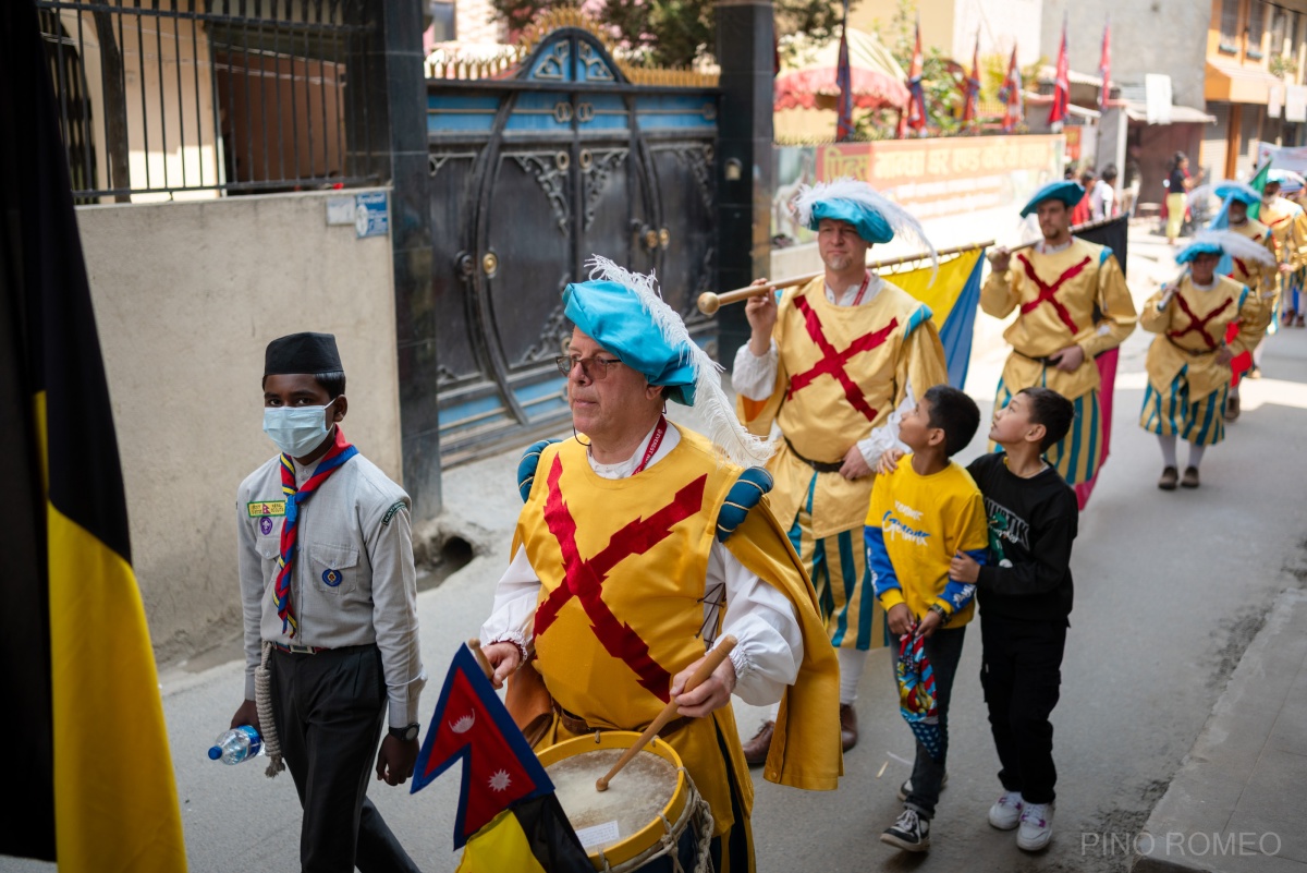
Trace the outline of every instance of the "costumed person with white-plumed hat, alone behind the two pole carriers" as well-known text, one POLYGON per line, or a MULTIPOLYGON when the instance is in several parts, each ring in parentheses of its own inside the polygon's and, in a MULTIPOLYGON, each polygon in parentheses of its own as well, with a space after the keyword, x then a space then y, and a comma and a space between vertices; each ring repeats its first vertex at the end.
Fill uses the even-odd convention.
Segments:
POLYGON ((1256 344, 1264 319, 1257 294, 1216 273, 1223 255, 1252 265, 1274 264, 1264 246, 1229 230, 1204 230, 1175 260, 1188 264, 1180 278, 1144 303, 1140 327, 1157 333, 1148 350, 1148 389, 1140 427, 1157 434, 1162 477, 1157 486, 1175 490, 1179 476, 1176 436, 1189 443, 1180 485, 1199 487, 1199 464, 1208 446, 1225 439, 1221 410, 1230 387, 1230 361, 1256 344), (1226 331, 1236 328, 1234 340, 1226 331))

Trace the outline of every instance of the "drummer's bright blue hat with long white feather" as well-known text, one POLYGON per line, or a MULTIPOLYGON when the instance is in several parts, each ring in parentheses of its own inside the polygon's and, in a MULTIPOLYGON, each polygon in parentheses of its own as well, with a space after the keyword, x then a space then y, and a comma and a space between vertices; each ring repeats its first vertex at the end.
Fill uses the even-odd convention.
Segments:
POLYGON ((762 465, 775 452, 736 418, 721 389, 721 367, 690 338, 685 321, 663 301, 654 273, 633 273, 599 255, 586 261, 589 281, 563 289, 563 314, 576 328, 668 397, 701 410, 708 438, 740 467, 762 465))

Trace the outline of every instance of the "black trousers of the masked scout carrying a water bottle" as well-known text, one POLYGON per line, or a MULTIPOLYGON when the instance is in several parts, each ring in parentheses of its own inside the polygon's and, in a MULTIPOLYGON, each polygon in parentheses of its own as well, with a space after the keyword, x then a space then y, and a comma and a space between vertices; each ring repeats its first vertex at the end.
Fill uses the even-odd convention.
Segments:
POLYGON ((303 873, 417 872, 367 800, 386 714, 386 678, 375 646, 316 655, 273 650, 272 714, 295 780, 305 822, 303 873))

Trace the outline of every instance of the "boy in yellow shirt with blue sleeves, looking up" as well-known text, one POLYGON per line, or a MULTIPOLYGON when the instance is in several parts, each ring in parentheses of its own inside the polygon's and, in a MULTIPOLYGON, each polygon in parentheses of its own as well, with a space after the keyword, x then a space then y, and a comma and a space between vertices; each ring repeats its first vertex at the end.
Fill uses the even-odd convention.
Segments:
MULTIPOLYGON (((940 714, 938 758, 919 741, 903 813, 881 840, 910 852, 931 847, 931 818, 940 800, 948 755, 948 712, 962 656, 975 585, 949 578, 957 553, 984 563, 989 542, 984 499, 971 476, 949 459, 980 425, 975 401, 957 388, 935 386, 903 416, 899 440, 911 450, 899 463, 887 452, 872 487, 864 537, 872 587, 890 633, 925 639, 940 714)), ((898 670, 898 647, 894 668, 898 670)))

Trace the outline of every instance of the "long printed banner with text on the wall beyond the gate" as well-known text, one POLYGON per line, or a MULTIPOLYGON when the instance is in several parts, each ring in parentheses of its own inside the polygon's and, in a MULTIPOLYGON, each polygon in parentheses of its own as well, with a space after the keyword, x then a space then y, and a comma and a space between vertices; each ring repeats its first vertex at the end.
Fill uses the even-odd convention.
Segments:
POLYGON ((921 221, 1019 208, 1039 186, 1063 176, 1063 135, 974 136, 776 146, 774 235, 810 242, 788 204, 801 184, 853 176, 921 221))

